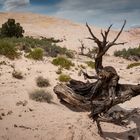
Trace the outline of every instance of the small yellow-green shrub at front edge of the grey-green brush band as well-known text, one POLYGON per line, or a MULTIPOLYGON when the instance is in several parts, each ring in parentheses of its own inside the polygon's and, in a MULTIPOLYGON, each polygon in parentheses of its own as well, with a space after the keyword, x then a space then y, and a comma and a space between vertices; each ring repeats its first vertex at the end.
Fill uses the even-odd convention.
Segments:
POLYGON ((27 55, 27 57, 32 58, 34 60, 42 60, 43 50, 41 48, 35 48, 29 53, 29 55, 27 55))

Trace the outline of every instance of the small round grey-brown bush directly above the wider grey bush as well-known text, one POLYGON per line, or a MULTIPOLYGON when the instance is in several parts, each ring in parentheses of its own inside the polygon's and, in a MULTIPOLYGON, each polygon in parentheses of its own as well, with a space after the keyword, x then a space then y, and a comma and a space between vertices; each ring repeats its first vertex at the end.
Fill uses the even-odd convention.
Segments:
POLYGON ((48 87, 48 86, 50 86, 49 80, 46 79, 46 78, 43 78, 42 76, 37 77, 36 84, 39 87, 48 87))

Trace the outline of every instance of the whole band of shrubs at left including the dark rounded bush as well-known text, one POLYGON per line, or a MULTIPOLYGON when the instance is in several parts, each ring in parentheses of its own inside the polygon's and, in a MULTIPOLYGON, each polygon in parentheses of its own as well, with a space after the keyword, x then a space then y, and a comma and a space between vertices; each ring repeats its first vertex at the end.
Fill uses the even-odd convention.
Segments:
POLYGON ((73 51, 57 45, 62 40, 53 37, 24 37, 23 33, 20 23, 16 23, 15 19, 8 19, 0 29, 0 54, 10 59, 18 57, 17 51, 24 51, 28 53, 28 58, 35 60, 42 60, 43 56, 57 57, 62 54, 69 58, 74 57, 73 51))

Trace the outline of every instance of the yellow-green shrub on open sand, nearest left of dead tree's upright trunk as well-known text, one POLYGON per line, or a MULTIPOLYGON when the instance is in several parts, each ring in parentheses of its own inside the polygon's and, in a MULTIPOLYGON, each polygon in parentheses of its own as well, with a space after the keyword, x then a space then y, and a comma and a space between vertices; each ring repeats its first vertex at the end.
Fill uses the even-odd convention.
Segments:
POLYGON ((53 59, 52 64, 60 66, 65 69, 70 69, 71 66, 74 66, 74 63, 72 63, 70 60, 62 56, 53 59))

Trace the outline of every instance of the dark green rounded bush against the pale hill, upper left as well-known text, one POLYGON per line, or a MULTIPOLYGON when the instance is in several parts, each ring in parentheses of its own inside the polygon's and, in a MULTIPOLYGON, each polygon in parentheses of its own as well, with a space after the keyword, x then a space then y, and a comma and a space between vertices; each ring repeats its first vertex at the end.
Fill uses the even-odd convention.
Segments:
POLYGON ((2 24, 1 36, 2 37, 23 37, 24 30, 20 23, 16 23, 15 19, 8 19, 7 22, 2 24))

